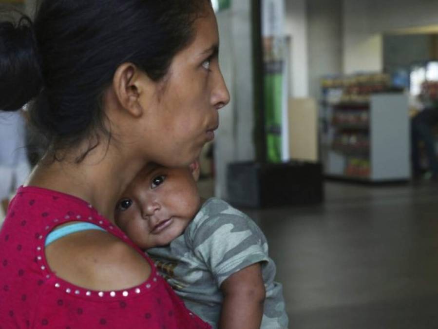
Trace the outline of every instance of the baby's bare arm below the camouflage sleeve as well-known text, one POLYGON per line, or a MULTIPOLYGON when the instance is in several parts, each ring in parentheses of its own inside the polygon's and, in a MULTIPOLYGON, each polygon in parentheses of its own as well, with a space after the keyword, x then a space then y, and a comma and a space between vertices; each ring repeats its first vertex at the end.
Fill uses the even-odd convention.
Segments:
POLYGON ((260 263, 235 272, 221 285, 224 294, 219 329, 260 329, 265 283, 260 263))

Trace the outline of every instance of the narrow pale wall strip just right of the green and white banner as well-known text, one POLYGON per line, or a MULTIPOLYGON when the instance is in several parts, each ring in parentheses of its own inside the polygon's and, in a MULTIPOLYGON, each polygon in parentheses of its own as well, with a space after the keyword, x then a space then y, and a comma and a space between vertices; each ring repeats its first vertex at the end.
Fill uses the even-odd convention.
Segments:
POLYGON ((285 0, 285 34, 291 37, 289 96, 309 95, 306 0, 285 0))

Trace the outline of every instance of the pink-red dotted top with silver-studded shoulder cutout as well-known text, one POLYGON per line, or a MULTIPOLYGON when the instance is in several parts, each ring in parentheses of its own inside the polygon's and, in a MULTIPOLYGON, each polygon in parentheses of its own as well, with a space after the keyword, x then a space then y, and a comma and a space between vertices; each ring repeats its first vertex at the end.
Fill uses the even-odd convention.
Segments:
POLYGON ((0 329, 210 328, 184 306, 153 262, 85 201, 36 187, 21 187, 0 231, 0 329), (151 276, 126 290, 72 285, 47 265, 44 241, 56 226, 90 222, 124 240, 151 264, 151 276))

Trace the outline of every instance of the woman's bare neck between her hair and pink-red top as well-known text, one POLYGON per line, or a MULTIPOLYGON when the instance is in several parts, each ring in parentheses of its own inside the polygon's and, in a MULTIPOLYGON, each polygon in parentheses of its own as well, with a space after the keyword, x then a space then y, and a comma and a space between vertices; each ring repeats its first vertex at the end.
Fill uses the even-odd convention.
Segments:
POLYGON ((116 202, 147 161, 111 146, 97 147, 80 163, 70 154, 63 161, 40 161, 26 185, 81 198, 114 222, 116 202))

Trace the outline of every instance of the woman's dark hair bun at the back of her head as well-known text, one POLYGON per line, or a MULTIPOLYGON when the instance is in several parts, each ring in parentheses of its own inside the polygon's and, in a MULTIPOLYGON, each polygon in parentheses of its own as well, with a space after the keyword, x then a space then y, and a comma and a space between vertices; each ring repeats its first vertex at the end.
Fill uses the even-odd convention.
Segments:
POLYGON ((0 110, 19 110, 38 95, 42 81, 32 21, 0 22, 0 110))

